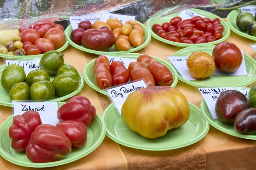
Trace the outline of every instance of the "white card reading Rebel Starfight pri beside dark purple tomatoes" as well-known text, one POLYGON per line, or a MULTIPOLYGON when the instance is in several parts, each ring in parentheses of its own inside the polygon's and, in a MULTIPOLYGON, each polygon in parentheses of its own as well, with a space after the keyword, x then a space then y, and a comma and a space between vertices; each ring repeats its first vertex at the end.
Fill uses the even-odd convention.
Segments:
MULTIPOLYGON (((233 87, 215 87, 215 88, 198 88, 202 96, 204 97, 205 103, 207 104, 213 119, 218 119, 215 112, 215 104, 221 93, 227 90, 236 90, 233 87)), ((238 91, 242 92, 246 97, 248 97, 250 89, 240 89, 238 91)))

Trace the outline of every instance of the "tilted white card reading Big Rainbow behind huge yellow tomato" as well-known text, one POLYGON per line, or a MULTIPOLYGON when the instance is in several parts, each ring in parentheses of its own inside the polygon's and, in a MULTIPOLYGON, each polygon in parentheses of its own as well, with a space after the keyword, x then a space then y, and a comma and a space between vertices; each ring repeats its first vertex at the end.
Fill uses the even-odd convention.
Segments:
POLYGON ((120 86, 113 86, 104 90, 108 92, 111 100, 114 102, 119 114, 121 115, 122 105, 124 104, 124 101, 127 98, 127 96, 133 91, 145 87, 148 86, 146 85, 144 79, 141 79, 124 83, 120 86))

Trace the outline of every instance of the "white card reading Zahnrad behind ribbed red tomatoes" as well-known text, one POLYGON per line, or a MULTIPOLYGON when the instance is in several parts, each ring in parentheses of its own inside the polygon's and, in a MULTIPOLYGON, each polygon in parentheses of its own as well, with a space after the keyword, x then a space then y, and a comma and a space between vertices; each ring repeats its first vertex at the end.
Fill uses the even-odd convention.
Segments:
POLYGON ((40 115, 42 124, 56 125, 59 121, 57 118, 57 102, 13 102, 13 115, 21 115, 26 111, 34 110, 40 115))

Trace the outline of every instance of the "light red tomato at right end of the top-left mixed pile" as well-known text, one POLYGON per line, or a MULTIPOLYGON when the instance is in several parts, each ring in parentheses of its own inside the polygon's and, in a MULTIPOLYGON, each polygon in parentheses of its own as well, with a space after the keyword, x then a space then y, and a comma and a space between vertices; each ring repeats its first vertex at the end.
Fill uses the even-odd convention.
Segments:
POLYGON ((54 50, 61 48, 66 42, 65 34, 59 28, 49 29, 44 34, 44 38, 51 40, 51 42, 54 44, 54 50))

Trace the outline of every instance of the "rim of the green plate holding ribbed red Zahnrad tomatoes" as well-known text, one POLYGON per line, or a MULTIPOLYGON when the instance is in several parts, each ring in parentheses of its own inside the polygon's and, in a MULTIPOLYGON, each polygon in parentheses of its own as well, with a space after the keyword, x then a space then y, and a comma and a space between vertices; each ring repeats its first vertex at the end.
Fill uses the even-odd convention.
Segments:
MULTIPOLYGON (((58 105, 63 105, 65 102, 58 102, 58 105)), ((9 116, 1 125, 0 125, 0 130, 3 128, 3 126, 7 125, 8 123, 10 123, 10 125, 12 124, 12 118, 13 115, 9 116)), ((85 157, 86 155, 90 154, 92 151, 94 151, 100 144, 101 142, 104 140, 105 135, 106 135, 106 124, 103 120, 103 118, 96 113, 95 116, 95 120, 99 123, 99 125, 101 125, 99 128, 101 128, 101 133, 100 136, 97 138, 97 141, 95 143, 92 144, 92 146, 90 146, 90 148, 86 149, 86 152, 82 152, 80 154, 77 154, 75 157, 72 158, 67 158, 67 159, 62 159, 60 161, 55 161, 55 162, 46 162, 46 163, 34 163, 34 162, 26 162, 26 161, 20 161, 17 159, 14 159, 8 155, 6 155, 5 151, 2 149, 1 144, 0 144, 0 155, 7 161, 16 164, 16 165, 20 165, 23 167, 33 167, 33 168, 45 168, 45 167, 54 167, 54 166, 58 166, 58 165, 64 165, 73 161, 76 161, 82 157, 85 157)), ((92 123, 94 123, 94 121, 92 123)), ((88 127, 90 128, 90 126, 88 127)), ((93 131, 93 130, 92 130, 93 131)), ((0 131, 0 133, 2 134, 3 131, 0 131)), ((87 134, 88 136, 88 134, 87 134)), ((86 144, 85 144, 86 145, 86 144)), ((76 149, 79 150, 79 149, 76 149)), ((13 150, 13 152, 15 152, 15 150, 13 150)), ((71 151, 72 152, 72 151, 71 151)), ((24 153, 25 154, 25 153, 24 153)), ((28 160, 29 161, 29 160, 28 160)))

